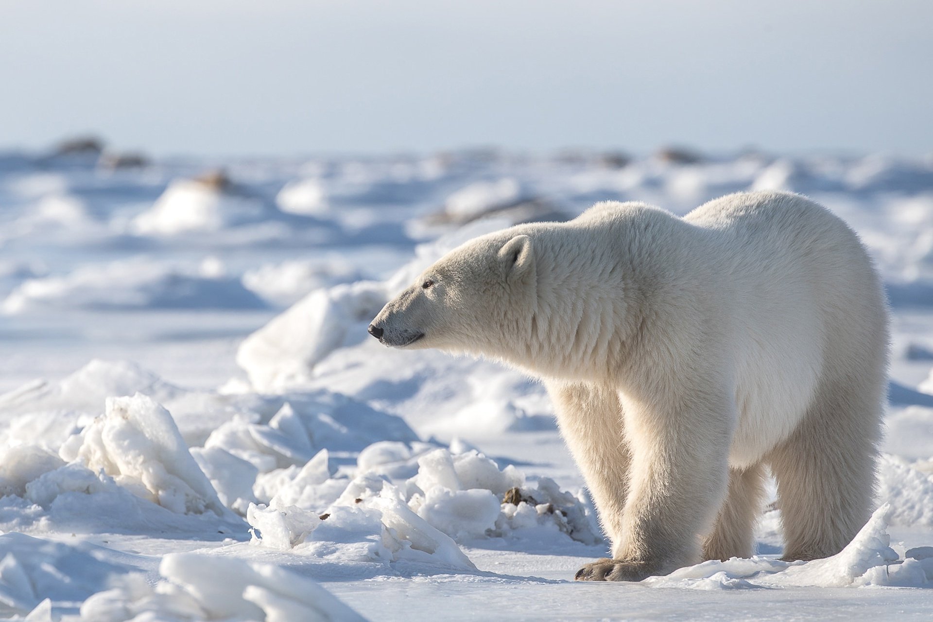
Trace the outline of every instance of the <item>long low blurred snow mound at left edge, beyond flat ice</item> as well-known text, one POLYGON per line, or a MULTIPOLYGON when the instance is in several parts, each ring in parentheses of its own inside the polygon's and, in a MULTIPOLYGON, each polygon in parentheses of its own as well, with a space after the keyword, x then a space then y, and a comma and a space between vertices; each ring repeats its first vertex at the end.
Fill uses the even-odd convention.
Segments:
POLYGON ((3 302, 7 314, 62 309, 262 309, 239 279, 180 270, 141 259, 82 266, 64 276, 29 279, 3 302))

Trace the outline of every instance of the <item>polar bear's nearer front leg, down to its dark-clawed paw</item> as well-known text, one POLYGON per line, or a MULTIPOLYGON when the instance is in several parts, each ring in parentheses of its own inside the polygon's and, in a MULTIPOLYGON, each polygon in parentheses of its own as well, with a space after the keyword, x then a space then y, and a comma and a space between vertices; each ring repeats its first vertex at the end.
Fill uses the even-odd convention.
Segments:
POLYGON ((584 566, 579 580, 640 581, 700 561, 699 534, 716 518, 729 477, 733 407, 716 393, 652 404, 621 397, 632 465, 620 538, 613 559, 584 566))

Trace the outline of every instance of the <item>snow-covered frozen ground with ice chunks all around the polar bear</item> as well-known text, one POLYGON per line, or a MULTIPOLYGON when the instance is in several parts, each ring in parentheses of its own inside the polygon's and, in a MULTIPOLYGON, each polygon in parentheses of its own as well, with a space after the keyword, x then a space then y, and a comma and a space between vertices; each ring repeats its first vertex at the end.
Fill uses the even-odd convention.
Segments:
POLYGON ((0 617, 929 619, 933 160, 678 159, 0 154, 0 617), (753 560, 574 583, 606 544, 541 387, 365 326, 482 232, 748 188, 884 274, 879 509, 830 560, 778 561, 772 510, 753 560))

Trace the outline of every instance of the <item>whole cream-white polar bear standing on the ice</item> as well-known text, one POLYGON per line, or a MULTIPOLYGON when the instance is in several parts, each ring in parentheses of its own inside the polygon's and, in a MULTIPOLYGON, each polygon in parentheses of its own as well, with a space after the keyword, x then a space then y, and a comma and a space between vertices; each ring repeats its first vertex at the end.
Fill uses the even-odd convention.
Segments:
POLYGON ((799 195, 507 228, 442 257, 369 333, 545 383, 612 546, 579 580, 749 557, 767 468, 787 560, 837 553, 869 517, 884 293, 856 234, 799 195))

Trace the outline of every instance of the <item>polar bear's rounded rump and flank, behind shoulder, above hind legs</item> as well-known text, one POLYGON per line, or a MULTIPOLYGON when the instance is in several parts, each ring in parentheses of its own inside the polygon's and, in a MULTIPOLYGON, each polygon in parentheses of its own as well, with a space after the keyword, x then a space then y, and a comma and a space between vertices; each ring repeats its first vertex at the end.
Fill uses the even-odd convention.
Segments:
POLYGON ((887 311, 870 257, 837 216, 800 195, 741 193, 684 217, 717 240, 730 283, 739 402, 731 452, 751 462, 806 414, 829 378, 884 381, 887 311))

